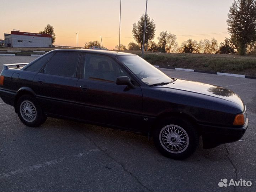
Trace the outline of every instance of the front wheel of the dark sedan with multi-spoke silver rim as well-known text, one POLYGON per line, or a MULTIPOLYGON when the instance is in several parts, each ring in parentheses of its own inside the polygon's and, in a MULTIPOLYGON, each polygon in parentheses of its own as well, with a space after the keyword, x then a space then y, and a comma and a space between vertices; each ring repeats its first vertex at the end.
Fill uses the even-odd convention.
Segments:
POLYGON ((153 139, 156 148, 172 159, 188 158, 199 143, 199 135, 192 124, 178 118, 160 121, 153 131, 153 139))

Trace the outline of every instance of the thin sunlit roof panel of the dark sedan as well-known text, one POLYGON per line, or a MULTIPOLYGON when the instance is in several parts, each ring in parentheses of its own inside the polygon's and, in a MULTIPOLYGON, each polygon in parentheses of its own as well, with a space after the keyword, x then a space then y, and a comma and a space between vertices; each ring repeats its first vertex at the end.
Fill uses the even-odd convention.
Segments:
POLYGON ((108 56, 116 56, 116 55, 135 55, 132 53, 124 53, 118 51, 109 51, 109 50, 95 50, 95 49, 54 49, 50 52, 83 52, 83 53, 94 53, 94 54, 103 54, 108 56))

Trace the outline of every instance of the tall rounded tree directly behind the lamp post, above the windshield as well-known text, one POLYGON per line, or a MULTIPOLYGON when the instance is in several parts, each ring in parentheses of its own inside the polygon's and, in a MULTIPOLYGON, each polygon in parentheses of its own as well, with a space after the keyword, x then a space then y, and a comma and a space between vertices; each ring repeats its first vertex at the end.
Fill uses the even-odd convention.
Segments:
MULTIPOLYGON (((143 31, 144 31, 145 15, 143 14, 140 17, 140 20, 136 23, 133 23, 133 38, 139 44, 140 49, 142 49, 143 44, 143 31)), ((145 44, 155 37, 155 23, 154 19, 150 20, 148 14, 146 14, 146 30, 145 30, 145 44)))

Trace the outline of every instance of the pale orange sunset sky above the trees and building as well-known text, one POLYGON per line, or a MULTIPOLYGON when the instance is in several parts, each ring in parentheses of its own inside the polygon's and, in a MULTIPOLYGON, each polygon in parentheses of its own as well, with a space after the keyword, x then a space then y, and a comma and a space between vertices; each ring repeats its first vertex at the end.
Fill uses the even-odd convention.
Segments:
MULTIPOLYGON (((226 19, 233 0, 148 0, 148 15, 154 19, 157 43, 159 33, 176 34, 177 42, 191 38, 229 37, 226 19), (214 34, 215 33, 215 34, 214 34)), ((12 30, 42 31, 54 27, 55 45, 84 47, 85 42, 99 41, 113 49, 119 42, 120 0, 0 0, 0 39, 12 30)), ((146 0, 122 0, 121 44, 135 42, 132 25, 145 14, 146 0)))

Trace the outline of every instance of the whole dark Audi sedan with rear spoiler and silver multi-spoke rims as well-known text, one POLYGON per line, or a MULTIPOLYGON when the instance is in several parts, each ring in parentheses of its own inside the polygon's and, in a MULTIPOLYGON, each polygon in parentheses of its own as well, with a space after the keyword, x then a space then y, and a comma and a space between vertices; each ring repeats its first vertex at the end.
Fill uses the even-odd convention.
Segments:
POLYGON ((52 50, 31 63, 4 64, 0 96, 26 126, 69 118, 153 137, 165 156, 239 140, 246 106, 222 87, 170 78, 137 55, 88 49, 52 50))

